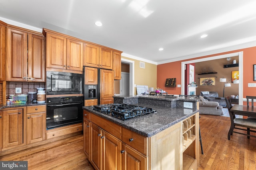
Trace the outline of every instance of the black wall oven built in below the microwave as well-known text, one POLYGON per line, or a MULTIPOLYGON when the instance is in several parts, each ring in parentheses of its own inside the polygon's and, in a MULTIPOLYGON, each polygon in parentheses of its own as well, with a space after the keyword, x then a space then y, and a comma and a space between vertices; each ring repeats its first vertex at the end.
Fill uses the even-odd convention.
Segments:
POLYGON ((83 96, 46 99, 46 129, 82 123, 83 96))

